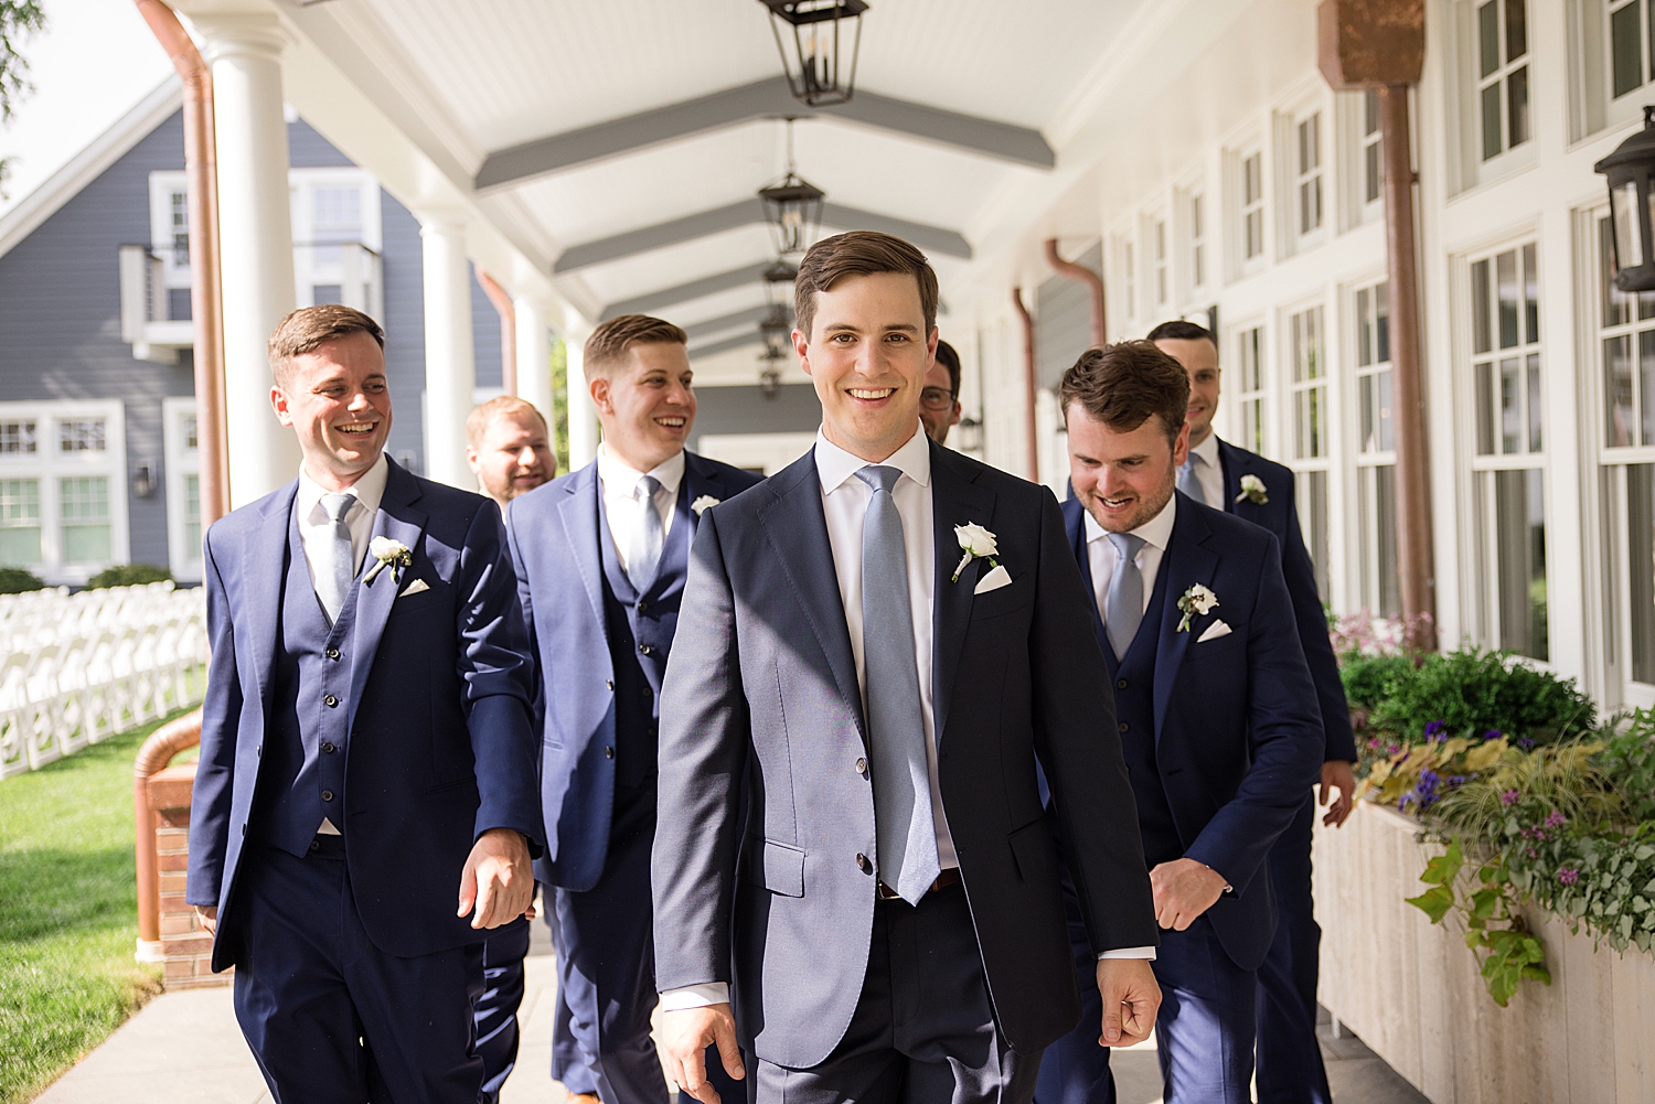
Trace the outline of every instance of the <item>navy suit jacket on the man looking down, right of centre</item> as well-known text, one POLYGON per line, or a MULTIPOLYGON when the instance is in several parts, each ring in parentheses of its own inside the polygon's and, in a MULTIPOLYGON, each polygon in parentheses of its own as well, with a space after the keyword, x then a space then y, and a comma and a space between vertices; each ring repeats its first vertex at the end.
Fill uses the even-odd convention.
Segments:
MULTIPOLYGON (((1233 887, 1206 912, 1213 930, 1238 967, 1256 970, 1276 932, 1261 867, 1321 776, 1322 725, 1276 538, 1175 495, 1177 518, 1160 559, 1167 601, 1155 647, 1155 766, 1185 857, 1233 887), (1195 584, 1216 594, 1218 606, 1178 632, 1178 598, 1195 584), (1200 641, 1216 621, 1230 632, 1200 641)), ((1071 498, 1063 513, 1101 631, 1084 508, 1071 498)))

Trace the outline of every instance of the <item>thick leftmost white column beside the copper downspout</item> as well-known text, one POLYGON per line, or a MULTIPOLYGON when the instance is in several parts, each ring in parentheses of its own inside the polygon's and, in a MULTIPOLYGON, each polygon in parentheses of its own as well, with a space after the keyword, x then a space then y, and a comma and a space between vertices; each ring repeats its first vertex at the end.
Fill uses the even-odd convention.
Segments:
POLYGON ((271 331, 293 310, 288 212, 288 124, 273 15, 200 17, 212 65, 223 286, 225 439, 230 506, 243 506, 298 473, 300 445, 270 409, 271 331))

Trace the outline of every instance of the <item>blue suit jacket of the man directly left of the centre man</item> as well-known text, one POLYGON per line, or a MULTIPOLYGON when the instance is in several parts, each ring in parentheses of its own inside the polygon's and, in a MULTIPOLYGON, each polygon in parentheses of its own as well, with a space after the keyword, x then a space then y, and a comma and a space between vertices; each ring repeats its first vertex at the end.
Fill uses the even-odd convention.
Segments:
MULTIPOLYGON (((685 450, 684 478, 693 503, 703 495, 735 498, 763 477, 685 450)), ((597 497, 594 460, 506 508, 518 594, 540 660, 536 727, 546 854, 535 864, 535 876, 576 892, 596 886, 604 871, 616 793, 616 761, 604 756, 604 748, 616 743, 616 672, 604 626, 597 497)), ((698 521, 692 510, 690 525, 698 521)))

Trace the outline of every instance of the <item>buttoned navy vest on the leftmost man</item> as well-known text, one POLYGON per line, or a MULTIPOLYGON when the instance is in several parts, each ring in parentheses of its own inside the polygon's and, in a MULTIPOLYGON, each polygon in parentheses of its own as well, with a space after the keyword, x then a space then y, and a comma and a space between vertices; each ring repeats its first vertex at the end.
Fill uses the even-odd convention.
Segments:
POLYGON ((270 669, 270 723, 250 831, 255 841, 296 856, 309 851, 324 816, 346 831, 346 697, 354 659, 348 649, 359 589, 359 583, 351 584, 339 619, 329 626, 300 543, 298 516, 290 511, 286 583, 270 669))

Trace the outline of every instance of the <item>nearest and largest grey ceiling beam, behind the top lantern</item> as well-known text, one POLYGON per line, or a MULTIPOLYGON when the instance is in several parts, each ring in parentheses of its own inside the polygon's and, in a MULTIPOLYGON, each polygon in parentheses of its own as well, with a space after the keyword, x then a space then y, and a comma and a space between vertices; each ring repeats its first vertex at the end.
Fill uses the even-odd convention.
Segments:
POLYGON ((793 98, 784 78, 775 76, 667 108, 551 134, 510 149, 496 149, 483 159, 473 185, 478 192, 511 187, 535 177, 740 126, 753 119, 789 118, 846 119, 1036 169, 1051 169, 1058 164, 1058 156, 1046 144, 1046 139, 1041 137, 1039 131, 1029 127, 980 119, 942 108, 927 108, 905 99, 890 99, 867 89, 857 91, 847 104, 808 108, 793 98))

